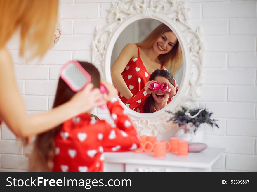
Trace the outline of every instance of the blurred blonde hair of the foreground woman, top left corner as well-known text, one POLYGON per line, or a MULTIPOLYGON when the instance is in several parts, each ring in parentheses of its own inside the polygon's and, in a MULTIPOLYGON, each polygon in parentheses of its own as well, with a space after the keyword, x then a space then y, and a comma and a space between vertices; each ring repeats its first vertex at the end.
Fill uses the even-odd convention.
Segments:
POLYGON ((0 48, 20 30, 20 55, 27 43, 42 57, 50 48, 58 16, 58 0, 1 0, 0 48), (28 41, 27 41, 28 40, 28 41))

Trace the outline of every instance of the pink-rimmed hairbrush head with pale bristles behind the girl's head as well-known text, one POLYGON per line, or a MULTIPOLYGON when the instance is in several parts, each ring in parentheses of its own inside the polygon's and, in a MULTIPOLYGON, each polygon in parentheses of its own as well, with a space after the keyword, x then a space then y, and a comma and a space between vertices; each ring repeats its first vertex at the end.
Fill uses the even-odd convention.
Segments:
POLYGON ((69 61, 60 70, 60 77, 74 92, 81 91, 91 82, 91 75, 78 61, 69 61))

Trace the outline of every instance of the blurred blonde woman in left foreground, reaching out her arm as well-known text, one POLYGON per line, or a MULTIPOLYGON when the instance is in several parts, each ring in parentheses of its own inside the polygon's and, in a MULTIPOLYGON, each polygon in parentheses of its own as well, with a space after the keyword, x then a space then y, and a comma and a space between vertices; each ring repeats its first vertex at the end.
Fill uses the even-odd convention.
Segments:
POLYGON ((16 136, 24 138, 45 132, 96 105, 104 104, 103 100, 98 101, 102 97, 99 89, 88 84, 70 101, 51 111, 27 115, 6 43, 15 31, 20 30, 20 55, 24 54, 28 44, 34 51, 34 57, 43 57, 53 40, 58 0, 1 0, 0 14, 0 118, 16 136))

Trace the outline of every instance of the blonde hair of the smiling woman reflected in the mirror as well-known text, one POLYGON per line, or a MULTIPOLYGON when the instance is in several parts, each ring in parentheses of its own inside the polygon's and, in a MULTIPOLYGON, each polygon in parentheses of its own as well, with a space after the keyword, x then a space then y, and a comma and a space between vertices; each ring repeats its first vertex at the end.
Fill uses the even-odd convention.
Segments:
MULTIPOLYGON (((142 42, 138 43, 138 45, 145 49, 151 48, 156 40, 161 37, 163 33, 168 31, 172 32, 167 25, 162 23, 156 27, 142 42)), ((179 42, 177 41, 169 53, 159 55, 158 59, 164 65, 164 67, 169 68, 170 66, 173 75, 175 75, 182 66, 183 62, 183 55, 179 42)))

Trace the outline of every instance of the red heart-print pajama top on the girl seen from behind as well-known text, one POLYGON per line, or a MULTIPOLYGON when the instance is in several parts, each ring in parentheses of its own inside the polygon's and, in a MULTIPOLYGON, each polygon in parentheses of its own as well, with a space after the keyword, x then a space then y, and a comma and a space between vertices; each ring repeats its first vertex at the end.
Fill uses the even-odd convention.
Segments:
POLYGON ((88 113, 63 123, 55 136, 53 171, 103 171, 104 151, 138 148, 137 132, 118 99, 107 102, 114 124, 88 113))

